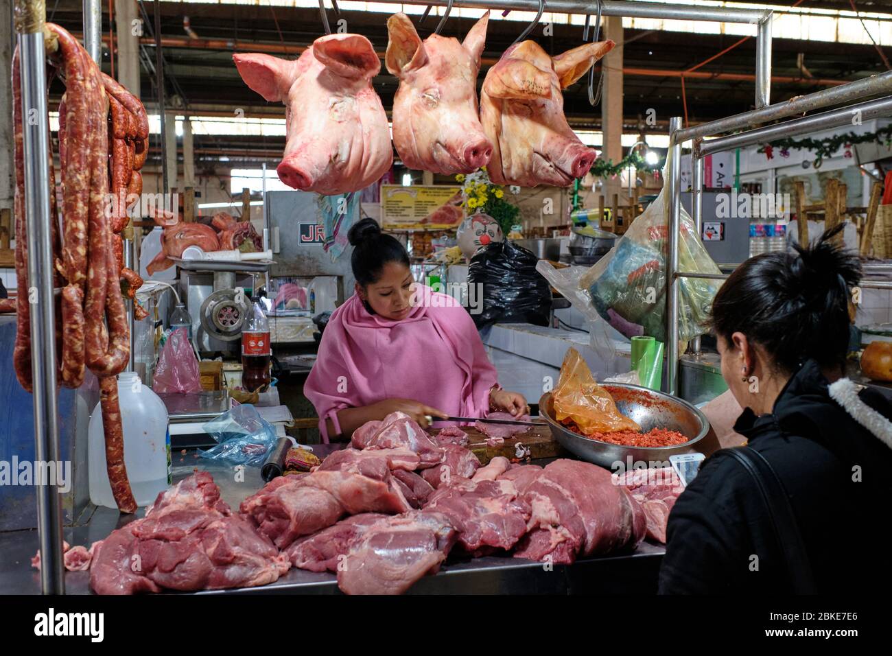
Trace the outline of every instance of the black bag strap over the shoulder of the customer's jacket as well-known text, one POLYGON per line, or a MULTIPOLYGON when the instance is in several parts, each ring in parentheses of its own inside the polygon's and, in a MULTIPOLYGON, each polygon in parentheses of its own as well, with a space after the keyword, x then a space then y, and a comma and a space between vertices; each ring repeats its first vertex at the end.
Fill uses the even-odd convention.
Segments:
POLYGON ((787 561, 789 582, 793 593, 817 594, 811 561, 808 559, 808 553, 805 552, 805 544, 802 542, 802 535, 799 533, 793 508, 789 504, 787 490, 780 482, 780 477, 771 463, 765 459, 762 453, 748 446, 723 449, 719 453, 731 455, 743 465, 744 469, 747 469, 749 475, 756 481, 756 487, 762 494, 765 508, 768 510, 768 517, 771 519, 780 552, 783 553, 784 559, 787 561))

